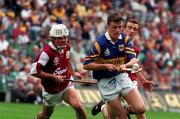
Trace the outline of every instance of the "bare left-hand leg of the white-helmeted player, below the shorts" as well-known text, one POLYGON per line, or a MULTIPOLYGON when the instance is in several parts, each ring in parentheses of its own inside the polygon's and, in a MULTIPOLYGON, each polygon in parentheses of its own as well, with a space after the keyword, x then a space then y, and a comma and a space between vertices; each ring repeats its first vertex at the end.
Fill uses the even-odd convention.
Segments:
POLYGON ((38 113, 35 119, 49 119, 54 111, 54 106, 46 106, 43 104, 42 111, 38 113))

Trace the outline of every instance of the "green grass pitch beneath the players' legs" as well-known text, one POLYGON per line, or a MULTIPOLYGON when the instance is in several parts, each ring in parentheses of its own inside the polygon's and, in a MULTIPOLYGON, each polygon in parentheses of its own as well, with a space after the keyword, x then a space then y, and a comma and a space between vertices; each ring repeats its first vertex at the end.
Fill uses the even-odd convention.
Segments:
MULTIPOLYGON (((33 119, 41 110, 41 105, 0 103, 0 119, 33 119)), ((86 108, 88 119, 103 119, 101 114, 91 115, 91 108, 86 108)), ((146 113, 147 119, 180 119, 180 113, 152 112, 146 113)), ((71 107, 57 105, 51 119, 76 119, 71 107)), ((135 117, 133 116, 133 119, 135 117)))

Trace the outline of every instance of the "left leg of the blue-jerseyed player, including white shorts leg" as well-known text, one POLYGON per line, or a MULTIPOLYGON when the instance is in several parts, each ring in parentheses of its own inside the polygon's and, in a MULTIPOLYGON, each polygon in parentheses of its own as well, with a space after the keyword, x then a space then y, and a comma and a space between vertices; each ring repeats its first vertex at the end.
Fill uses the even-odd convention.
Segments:
POLYGON ((114 114, 117 115, 118 118, 120 119, 127 119, 126 110, 122 107, 119 99, 120 90, 121 90, 119 83, 117 82, 116 77, 104 78, 101 79, 98 83, 98 87, 101 92, 102 99, 105 100, 108 104, 109 119, 115 119, 114 114))

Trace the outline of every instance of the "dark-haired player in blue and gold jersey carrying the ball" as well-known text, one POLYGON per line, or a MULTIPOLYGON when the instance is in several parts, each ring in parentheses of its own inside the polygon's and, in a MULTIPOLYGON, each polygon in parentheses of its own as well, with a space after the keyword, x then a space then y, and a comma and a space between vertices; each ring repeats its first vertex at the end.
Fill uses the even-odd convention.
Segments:
POLYGON ((135 84, 127 72, 119 71, 119 68, 132 67, 136 62, 131 39, 121 33, 122 28, 123 20, 120 14, 116 12, 110 14, 107 32, 95 42, 83 65, 84 69, 92 70, 93 78, 98 80, 102 99, 110 107, 109 119, 113 119, 114 115, 120 119, 127 119, 127 112, 136 114, 145 112, 145 104, 135 84), (125 63, 125 58, 128 58, 129 62, 125 63), (127 110, 122 107, 120 97, 130 105, 127 110), (113 109, 114 114, 110 109, 113 109))

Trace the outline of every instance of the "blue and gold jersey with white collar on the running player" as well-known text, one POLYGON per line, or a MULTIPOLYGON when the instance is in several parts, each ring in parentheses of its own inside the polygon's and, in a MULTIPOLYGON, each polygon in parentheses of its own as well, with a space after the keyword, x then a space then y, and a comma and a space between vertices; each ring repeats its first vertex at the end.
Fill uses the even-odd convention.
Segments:
MULTIPOLYGON (((106 32, 95 42, 93 48, 85 58, 84 64, 96 62, 120 66, 125 63, 125 57, 128 59, 136 57, 132 45, 131 39, 129 39, 126 34, 121 33, 119 40, 116 43, 113 43, 108 32, 106 32)), ((102 78, 110 78, 118 74, 118 71, 110 72, 108 70, 98 70, 93 71, 93 78, 99 80, 102 78)))

